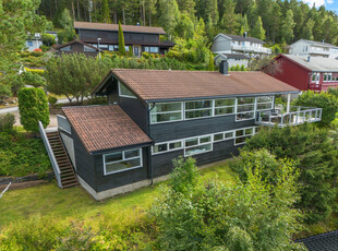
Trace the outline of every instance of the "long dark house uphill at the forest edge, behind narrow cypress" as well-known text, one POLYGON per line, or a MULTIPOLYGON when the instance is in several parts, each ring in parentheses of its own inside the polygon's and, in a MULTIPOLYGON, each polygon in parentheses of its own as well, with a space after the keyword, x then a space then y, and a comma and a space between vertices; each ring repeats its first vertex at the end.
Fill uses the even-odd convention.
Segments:
MULTIPOLYGON (((80 39, 99 47, 102 50, 119 50, 119 25, 105 23, 74 22, 74 28, 80 39)), ((160 35, 166 35, 161 27, 122 25, 125 50, 130 47, 133 55, 141 56, 146 51, 149 53, 165 53, 174 44, 161 41, 160 35)))

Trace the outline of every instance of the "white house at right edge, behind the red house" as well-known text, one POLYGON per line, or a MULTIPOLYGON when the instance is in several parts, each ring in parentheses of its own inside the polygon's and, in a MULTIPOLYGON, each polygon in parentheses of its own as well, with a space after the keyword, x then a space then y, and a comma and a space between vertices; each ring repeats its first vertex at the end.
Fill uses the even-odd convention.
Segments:
POLYGON ((324 43, 300 39, 289 48, 290 55, 338 58, 338 47, 324 43))

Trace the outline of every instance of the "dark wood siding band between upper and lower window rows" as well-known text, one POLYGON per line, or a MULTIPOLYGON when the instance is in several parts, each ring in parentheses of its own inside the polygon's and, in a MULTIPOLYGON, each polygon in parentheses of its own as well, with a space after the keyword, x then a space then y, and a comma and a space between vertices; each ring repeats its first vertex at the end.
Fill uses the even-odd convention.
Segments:
POLYGON ((150 138, 158 142, 180 140, 208 133, 234 130, 254 125, 254 120, 236 122, 234 115, 150 125, 150 138))

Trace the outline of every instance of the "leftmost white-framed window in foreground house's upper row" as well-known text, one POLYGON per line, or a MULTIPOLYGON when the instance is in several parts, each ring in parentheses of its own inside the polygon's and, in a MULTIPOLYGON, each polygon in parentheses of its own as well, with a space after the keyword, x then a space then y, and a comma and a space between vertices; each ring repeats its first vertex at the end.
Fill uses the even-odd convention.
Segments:
POLYGON ((150 123, 179 121, 183 119, 182 103, 157 103, 150 108, 150 123))

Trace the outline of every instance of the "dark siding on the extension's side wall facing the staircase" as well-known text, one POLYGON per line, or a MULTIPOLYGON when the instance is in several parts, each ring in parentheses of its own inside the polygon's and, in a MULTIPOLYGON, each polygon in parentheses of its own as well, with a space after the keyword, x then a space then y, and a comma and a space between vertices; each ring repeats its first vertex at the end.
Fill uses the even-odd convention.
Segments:
POLYGON ((72 138, 74 142, 76 172, 87 184, 89 184, 96 191, 97 179, 94 167, 94 156, 85 150, 73 128, 72 138))

